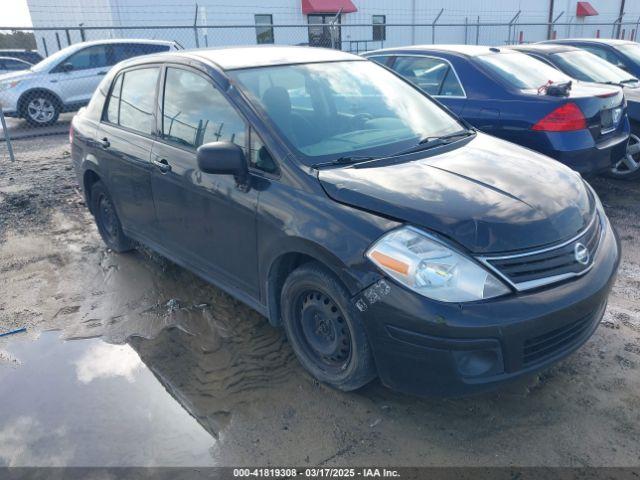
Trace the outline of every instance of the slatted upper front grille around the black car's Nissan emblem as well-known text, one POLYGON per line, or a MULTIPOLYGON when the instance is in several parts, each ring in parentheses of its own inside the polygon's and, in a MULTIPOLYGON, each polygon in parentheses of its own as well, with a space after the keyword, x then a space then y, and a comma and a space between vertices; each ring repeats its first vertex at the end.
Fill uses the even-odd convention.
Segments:
POLYGON ((586 272, 591 268, 601 235, 602 224, 596 214, 584 232, 557 248, 529 254, 486 257, 483 261, 519 290, 527 290, 586 272), (582 244, 589 252, 586 263, 581 263, 577 259, 576 245, 578 244, 582 244))

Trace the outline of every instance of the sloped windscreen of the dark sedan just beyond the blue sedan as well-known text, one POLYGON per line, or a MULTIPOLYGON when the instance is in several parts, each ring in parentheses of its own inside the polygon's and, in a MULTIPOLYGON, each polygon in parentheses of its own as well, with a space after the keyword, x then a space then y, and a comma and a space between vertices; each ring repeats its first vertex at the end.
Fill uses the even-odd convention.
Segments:
POLYGON ((585 50, 556 53, 554 62, 565 73, 585 82, 621 83, 633 77, 621 68, 585 50))

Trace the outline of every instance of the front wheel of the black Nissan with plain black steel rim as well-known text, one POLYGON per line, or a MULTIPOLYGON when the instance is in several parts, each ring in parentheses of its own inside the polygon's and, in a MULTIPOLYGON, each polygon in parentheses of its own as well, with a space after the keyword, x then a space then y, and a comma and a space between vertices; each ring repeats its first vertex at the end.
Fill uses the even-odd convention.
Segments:
POLYGON ((317 380, 350 391, 377 376, 360 313, 332 272, 316 262, 298 267, 284 282, 280 306, 293 351, 317 380))

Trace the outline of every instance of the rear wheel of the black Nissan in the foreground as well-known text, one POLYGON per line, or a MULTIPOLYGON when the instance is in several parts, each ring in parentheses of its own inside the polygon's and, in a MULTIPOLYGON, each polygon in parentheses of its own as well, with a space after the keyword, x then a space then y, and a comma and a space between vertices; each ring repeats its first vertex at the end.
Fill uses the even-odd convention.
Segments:
POLYGON ((91 187, 91 212, 96 219, 98 232, 107 247, 118 253, 133 249, 133 242, 122 231, 122 224, 111 196, 100 181, 91 187))

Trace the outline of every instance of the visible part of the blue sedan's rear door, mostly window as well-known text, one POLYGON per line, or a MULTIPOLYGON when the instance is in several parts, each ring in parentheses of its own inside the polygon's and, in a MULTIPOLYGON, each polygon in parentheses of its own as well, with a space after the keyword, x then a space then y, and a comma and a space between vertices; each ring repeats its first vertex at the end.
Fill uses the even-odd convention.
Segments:
POLYGON ((467 97, 458 74, 448 60, 435 56, 398 55, 389 65, 454 113, 460 114, 464 108, 467 97))

